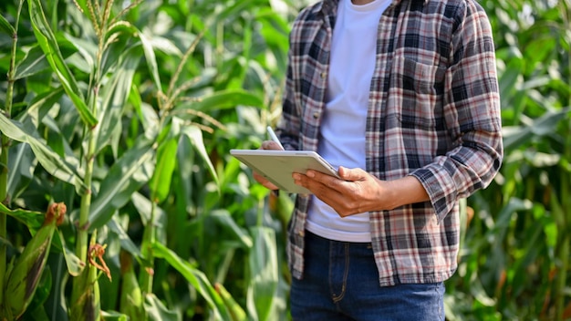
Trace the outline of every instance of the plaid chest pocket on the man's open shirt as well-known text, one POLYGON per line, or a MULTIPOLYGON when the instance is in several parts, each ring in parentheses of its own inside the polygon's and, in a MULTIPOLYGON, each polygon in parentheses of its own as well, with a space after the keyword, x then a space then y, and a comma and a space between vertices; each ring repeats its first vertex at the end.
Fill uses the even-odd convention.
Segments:
POLYGON ((443 120, 446 67, 429 65, 411 57, 393 59, 389 109, 403 128, 437 129, 443 120))

